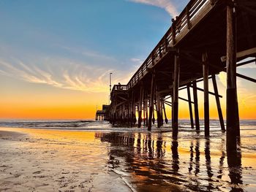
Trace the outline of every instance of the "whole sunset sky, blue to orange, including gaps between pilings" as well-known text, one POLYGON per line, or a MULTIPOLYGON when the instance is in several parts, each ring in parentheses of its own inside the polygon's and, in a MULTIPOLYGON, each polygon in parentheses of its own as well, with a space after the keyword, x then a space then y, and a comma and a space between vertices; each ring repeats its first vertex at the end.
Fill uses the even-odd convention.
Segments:
MULTIPOLYGON (((126 84, 187 2, 0 1, 0 118, 93 119, 108 104, 109 73, 112 84, 126 84)), ((238 72, 253 77, 255 64, 238 72)), ((225 81, 217 77, 224 115, 225 81)), ((253 82, 238 79, 241 118, 256 119, 255 93, 253 82)), ((179 116, 189 117, 182 101, 179 116)))

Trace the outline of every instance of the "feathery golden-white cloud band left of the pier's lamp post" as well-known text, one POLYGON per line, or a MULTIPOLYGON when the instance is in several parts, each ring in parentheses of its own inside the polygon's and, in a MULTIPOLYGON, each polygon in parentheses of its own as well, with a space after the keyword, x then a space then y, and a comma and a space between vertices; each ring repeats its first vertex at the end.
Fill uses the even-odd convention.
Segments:
POLYGON ((102 93, 108 91, 110 69, 95 69, 93 66, 74 61, 54 60, 44 69, 35 64, 24 64, 18 59, 4 61, 0 58, 0 74, 26 82, 46 84, 56 88, 102 93), (57 70, 53 65, 58 65, 57 70))

